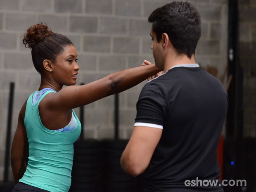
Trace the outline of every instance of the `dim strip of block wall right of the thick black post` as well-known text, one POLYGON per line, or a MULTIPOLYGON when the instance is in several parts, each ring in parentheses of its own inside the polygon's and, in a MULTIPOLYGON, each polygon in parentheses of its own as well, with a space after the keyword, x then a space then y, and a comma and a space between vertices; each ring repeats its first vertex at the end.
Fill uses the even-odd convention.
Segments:
POLYGON ((243 79, 244 137, 256 137, 256 0, 239 0, 239 63, 243 79))

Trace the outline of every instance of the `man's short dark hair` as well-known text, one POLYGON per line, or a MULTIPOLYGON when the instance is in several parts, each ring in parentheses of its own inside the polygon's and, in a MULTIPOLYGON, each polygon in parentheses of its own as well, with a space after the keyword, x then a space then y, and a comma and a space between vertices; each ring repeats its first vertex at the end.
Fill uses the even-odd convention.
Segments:
POLYGON ((195 53, 201 36, 201 19, 197 9, 188 2, 171 2, 152 12, 148 21, 156 33, 157 41, 167 33, 178 54, 189 58, 195 53))

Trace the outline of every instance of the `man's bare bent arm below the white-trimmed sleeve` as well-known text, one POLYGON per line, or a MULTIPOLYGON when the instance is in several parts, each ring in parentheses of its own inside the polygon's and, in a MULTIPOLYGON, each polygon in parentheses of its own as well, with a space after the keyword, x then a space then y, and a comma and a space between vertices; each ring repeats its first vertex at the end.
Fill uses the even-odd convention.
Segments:
POLYGON ((132 176, 144 173, 158 144, 162 129, 135 126, 121 156, 121 167, 132 176))

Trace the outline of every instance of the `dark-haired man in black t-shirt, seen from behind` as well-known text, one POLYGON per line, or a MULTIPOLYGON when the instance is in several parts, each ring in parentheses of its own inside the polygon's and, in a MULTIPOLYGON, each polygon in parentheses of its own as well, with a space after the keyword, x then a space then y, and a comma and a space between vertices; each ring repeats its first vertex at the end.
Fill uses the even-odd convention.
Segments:
POLYGON ((228 96, 195 62, 200 15, 187 2, 171 2, 148 21, 155 64, 164 74, 140 93, 121 166, 133 176, 143 173, 143 192, 223 192, 217 147, 228 96))

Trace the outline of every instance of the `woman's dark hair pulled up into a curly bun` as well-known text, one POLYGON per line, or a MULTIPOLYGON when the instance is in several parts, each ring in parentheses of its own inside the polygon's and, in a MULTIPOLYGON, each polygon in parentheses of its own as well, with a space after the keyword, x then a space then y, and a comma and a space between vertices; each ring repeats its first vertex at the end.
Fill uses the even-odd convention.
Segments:
POLYGON ((53 33, 47 24, 36 24, 27 29, 22 40, 26 48, 31 49, 32 61, 36 70, 42 74, 45 59, 55 62, 56 57, 67 45, 73 45, 66 36, 53 33))

